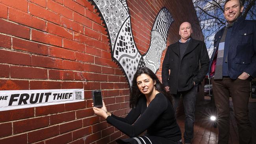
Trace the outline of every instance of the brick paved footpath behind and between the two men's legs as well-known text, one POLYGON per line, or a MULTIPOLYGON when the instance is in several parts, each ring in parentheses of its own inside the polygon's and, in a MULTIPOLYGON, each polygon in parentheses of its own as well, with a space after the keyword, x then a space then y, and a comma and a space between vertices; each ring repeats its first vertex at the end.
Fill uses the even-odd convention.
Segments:
MULTIPOLYGON (((196 105, 195 112, 195 126, 194 126, 194 138, 192 144, 217 144, 218 142, 218 129, 213 127, 213 123, 210 120, 210 116, 215 114, 214 103, 210 101, 209 97, 205 97, 204 102, 196 105)), ((184 133, 184 115, 177 118, 177 122, 182 131, 182 137, 184 133)), ((256 144, 256 99, 249 100, 249 119, 252 123, 253 130, 253 143, 256 144)), ((183 139, 184 142, 184 139, 183 139)), ((238 128, 236 119, 234 117, 233 103, 230 98, 230 138, 229 144, 239 144, 238 128)))

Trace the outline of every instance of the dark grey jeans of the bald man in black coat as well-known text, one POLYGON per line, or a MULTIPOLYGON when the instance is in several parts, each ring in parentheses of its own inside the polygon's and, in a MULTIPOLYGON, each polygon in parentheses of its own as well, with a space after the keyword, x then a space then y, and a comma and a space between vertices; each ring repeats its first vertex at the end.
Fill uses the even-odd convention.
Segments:
POLYGON ((173 94, 173 107, 176 113, 180 101, 180 95, 182 94, 184 111, 185 111, 185 132, 184 139, 185 143, 191 143, 194 133, 194 122, 195 122, 195 102, 197 97, 197 85, 193 86, 191 89, 178 92, 173 94))

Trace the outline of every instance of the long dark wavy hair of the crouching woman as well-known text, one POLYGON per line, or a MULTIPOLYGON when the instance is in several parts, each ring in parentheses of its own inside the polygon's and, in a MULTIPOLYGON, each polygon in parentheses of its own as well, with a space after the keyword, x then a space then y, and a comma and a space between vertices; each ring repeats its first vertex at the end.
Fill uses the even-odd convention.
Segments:
POLYGON ((130 108, 134 108, 139 97, 144 95, 141 93, 141 91, 137 86, 137 77, 140 76, 141 74, 147 74, 150 78, 153 79, 153 81, 156 81, 156 85, 155 85, 156 90, 158 90, 161 94, 166 96, 166 98, 172 103, 171 94, 169 94, 169 92, 166 92, 165 86, 161 83, 161 81, 158 79, 156 74, 154 74, 154 72, 152 72, 152 70, 150 70, 149 68, 143 67, 143 68, 139 68, 137 72, 134 74, 134 79, 132 81, 132 88, 130 92, 130 108))

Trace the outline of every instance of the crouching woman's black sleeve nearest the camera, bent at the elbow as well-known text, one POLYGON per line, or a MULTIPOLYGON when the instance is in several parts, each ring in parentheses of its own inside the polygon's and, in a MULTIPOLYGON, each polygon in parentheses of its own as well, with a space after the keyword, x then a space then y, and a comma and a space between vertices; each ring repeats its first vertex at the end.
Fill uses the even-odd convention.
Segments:
POLYGON ((155 120, 158 119, 167 109, 167 101, 162 96, 156 96, 148 105, 147 109, 137 119, 134 125, 127 124, 121 120, 118 120, 112 116, 107 117, 107 122, 117 129, 128 135, 129 137, 135 137, 150 127, 155 120))

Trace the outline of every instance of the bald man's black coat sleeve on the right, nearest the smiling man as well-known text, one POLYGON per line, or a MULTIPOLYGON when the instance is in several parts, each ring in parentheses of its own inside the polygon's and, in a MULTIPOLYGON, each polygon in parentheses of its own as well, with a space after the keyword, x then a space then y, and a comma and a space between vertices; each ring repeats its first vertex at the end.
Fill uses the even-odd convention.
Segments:
POLYGON ((195 76, 195 78, 193 78, 193 80, 195 81, 195 84, 198 84, 201 81, 203 81, 203 79, 205 78, 205 76, 208 72, 209 62, 210 62, 209 55, 208 55, 205 43, 200 42, 200 45, 201 45, 201 51, 200 51, 201 68, 200 68, 197 76, 195 76))

